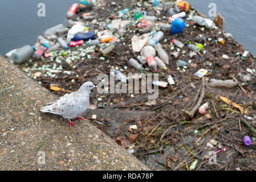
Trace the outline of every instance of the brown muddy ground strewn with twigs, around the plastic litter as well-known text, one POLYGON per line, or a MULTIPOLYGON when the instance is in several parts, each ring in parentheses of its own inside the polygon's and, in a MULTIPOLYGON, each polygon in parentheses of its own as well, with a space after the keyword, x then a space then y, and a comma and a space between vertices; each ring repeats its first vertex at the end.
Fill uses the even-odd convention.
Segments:
MULTIPOLYGON (((117 11, 134 5, 129 1, 116 1, 117 6, 113 6, 111 2, 113 1, 101 2, 101 6, 92 9, 98 15, 97 22, 115 19, 111 15, 117 15, 117 11)), ((80 15, 74 19, 78 19, 80 15)), ((162 13, 161 18, 162 16, 167 15, 162 13)), ((83 19, 80 20, 83 21, 83 19)), ((148 94, 99 94, 95 90, 90 97, 91 107, 84 116, 123 148, 134 152, 133 155, 151 169, 190 170, 190 166, 196 161, 194 170, 255 170, 256 136, 242 122, 246 119, 251 126, 256 127, 255 73, 246 71, 247 68, 256 68, 255 57, 249 53, 245 60, 241 60, 245 48, 234 39, 226 38, 225 31, 221 28, 203 30, 197 25, 194 28, 195 24, 192 20, 186 20, 186 18, 184 20, 189 26, 177 35, 165 32, 164 38, 160 41, 170 57, 170 64, 168 71, 159 70, 159 80, 167 81, 166 76, 172 75, 176 84, 159 88, 159 97, 155 105, 145 105, 148 102, 148 94), (216 42, 220 37, 225 39, 224 46, 216 42), (180 50, 178 57, 173 57, 172 53, 177 51, 177 47, 174 50, 171 49, 172 39, 178 39, 184 43, 198 42, 205 46, 201 53, 192 58, 189 57, 189 49, 186 46, 180 50), (204 50, 206 50, 205 54, 202 53, 204 50), (182 53, 183 51, 185 52, 182 53), (222 58, 222 55, 229 56, 229 59, 222 58), (192 60, 185 72, 182 72, 182 69, 180 71, 176 69, 175 64, 178 59, 192 60), (202 78, 194 75, 201 68, 208 70, 208 74, 203 78, 205 85, 202 85, 202 78), (248 74, 250 80, 245 80, 244 75, 248 76, 248 74), (233 88, 212 88, 208 85, 211 78, 237 80, 239 85, 233 88), (189 117, 185 110, 192 110, 197 104, 202 87, 205 88, 202 104, 209 102, 209 109, 204 115, 196 111, 193 117, 189 117), (229 98, 244 107, 243 112, 222 101, 220 96, 229 98), (246 115, 251 118, 245 118, 245 110, 247 110, 246 115), (94 114, 96 119, 92 119, 94 114), (243 143, 243 137, 246 135, 251 137, 251 146, 245 146, 243 143), (210 140, 216 142, 210 142, 210 140), (208 142, 212 143, 212 146, 208 142), (213 162, 209 160, 209 151, 218 151, 215 164, 209 162, 213 162)), ((161 22, 167 22, 167 20, 162 19, 161 22)), ((90 31, 101 29, 99 24, 92 23, 89 28, 90 31)), ((131 47, 131 38, 137 33, 140 34, 137 27, 129 27, 123 39, 117 42, 116 48, 104 57, 105 60, 100 60, 102 57, 100 48, 96 47, 91 53, 91 59, 84 55, 83 60, 79 57, 66 63, 64 61, 66 57, 60 57, 62 62, 58 63, 55 61, 56 56, 53 61, 42 57, 42 60, 32 60, 31 63, 27 61, 20 65, 20 68, 27 72, 29 70, 30 77, 34 77, 38 67, 50 65, 52 68, 54 63, 55 67, 62 65, 62 72, 55 73, 55 77, 45 77, 46 71, 40 70, 42 75, 34 78, 48 89, 54 85, 71 92, 78 90, 86 81, 99 84, 97 75, 99 73, 109 75, 111 67, 123 69, 122 72, 125 74, 138 73, 127 62, 130 58, 136 59, 139 55, 133 52, 131 47), (124 69, 125 66, 128 69, 124 69), (31 68, 35 69, 31 71, 31 68), (63 71, 74 73, 67 75, 63 71)), ((78 49, 83 51, 83 47, 71 48, 71 51, 78 51, 78 49)), ((67 56, 70 54, 68 53, 67 56)), ((143 66, 147 67, 147 65, 143 66)), ((146 72, 153 73, 151 69, 146 72)), ((57 96, 66 94, 62 90, 51 91, 57 96)), ((63 125, 69 127, 68 122, 63 125)))

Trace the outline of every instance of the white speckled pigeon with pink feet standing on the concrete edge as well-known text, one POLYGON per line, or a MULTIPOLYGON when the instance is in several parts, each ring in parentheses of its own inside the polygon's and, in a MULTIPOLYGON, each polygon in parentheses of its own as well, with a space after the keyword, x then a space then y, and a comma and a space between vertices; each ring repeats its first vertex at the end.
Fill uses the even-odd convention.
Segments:
MULTIPOLYGON (((60 97, 58 101, 51 102, 46 106, 40 107, 40 111, 43 113, 53 113, 61 115, 63 118, 68 119, 71 125, 74 125, 75 122, 72 122, 70 119, 78 118, 86 121, 80 115, 84 113, 90 105, 90 90, 96 86, 90 82, 85 82, 78 91, 72 92, 70 94, 65 94, 63 97, 60 97)), ((74 125, 76 126, 76 125, 74 125)))

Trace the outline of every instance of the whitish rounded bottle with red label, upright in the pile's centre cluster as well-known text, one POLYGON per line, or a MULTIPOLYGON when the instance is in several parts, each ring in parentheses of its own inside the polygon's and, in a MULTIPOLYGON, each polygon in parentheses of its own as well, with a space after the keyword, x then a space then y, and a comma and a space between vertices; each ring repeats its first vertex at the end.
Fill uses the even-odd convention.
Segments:
POLYGON ((155 60, 155 55, 156 55, 156 51, 155 51, 155 55, 152 54, 153 50, 155 51, 155 49, 151 46, 145 46, 143 47, 143 49, 141 50, 141 55, 143 55, 144 57, 146 57, 148 66, 153 69, 155 72, 157 72, 157 63, 155 60))

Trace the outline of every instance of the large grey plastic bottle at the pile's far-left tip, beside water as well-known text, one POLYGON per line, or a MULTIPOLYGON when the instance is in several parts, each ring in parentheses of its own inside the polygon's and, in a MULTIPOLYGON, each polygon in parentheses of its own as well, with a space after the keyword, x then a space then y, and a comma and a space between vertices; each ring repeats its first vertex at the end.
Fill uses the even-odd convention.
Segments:
POLYGON ((22 48, 19 48, 17 51, 13 52, 11 54, 11 59, 13 59, 15 64, 21 64, 24 61, 30 59, 32 55, 34 54, 34 49, 29 46, 23 46, 22 48))

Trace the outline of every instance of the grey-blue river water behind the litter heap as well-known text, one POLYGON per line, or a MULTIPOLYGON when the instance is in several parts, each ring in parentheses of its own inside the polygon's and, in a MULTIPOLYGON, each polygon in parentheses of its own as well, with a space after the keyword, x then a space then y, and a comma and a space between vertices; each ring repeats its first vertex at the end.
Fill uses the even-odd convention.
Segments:
MULTIPOLYGON (((209 3, 216 3, 217 12, 225 18, 225 31, 256 55, 256 1, 255 0, 187 0, 195 9, 208 16, 209 3)), ((11 49, 31 46, 44 30, 63 23, 72 3, 78 0, 1 0, 0 1, 0 55, 11 49), (38 17, 38 3, 46 5, 46 16, 38 17)))

